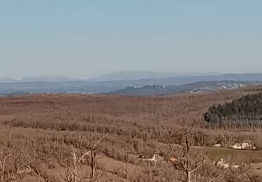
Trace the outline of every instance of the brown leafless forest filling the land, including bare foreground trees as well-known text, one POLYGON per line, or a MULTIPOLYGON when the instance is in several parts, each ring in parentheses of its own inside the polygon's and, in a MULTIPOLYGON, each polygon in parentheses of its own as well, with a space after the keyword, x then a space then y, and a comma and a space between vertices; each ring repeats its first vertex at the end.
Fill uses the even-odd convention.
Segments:
POLYGON ((261 129, 203 117, 213 105, 261 90, 3 97, 0 181, 261 181, 261 129), (229 148, 244 142, 256 150, 229 148))

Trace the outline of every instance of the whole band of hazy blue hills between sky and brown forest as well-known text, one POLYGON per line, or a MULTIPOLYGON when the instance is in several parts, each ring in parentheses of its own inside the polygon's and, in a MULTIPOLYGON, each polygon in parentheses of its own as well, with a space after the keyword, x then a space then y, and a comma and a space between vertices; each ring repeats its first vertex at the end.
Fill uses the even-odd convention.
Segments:
MULTIPOLYGON (((136 73, 132 71, 132 73, 136 73)), ((130 73, 131 74, 131 73, 130 73)), ((143 76, 144 73, 140 73, 143 76)), ((177 87, 189 87, 191 83, 201 85, 209 83, 210 81, 231 80, 234 83, 250 83, 256 84, 256 81, 262 81, 262 73, 237 73, 237 74, 214 74, 214 75, 191 75, 191 76, 172 76, 167 78, 143 78, 143 79, 119 79, 119 73, 113 76, 105 76, 104 78, 78 79, 67 77, 39 77, 39 78, 24 78, 22 80, 13 80, 12 78, 0 78, 0 94, 6 95, 10 93, 51 93, 51 92, 67 92, 67 93, 110 93, 110 94, 169 94, 177 90, 177 87), (103 79, 117 79, 117 80, 103 80, 103 79), (161 91, 159 91, 161 90, 161 91), (170 91, 171 90, 171 91, 170 91), (139 92, 139 93, 138 93, 139 92)), ((121 75, 121 74, 120 74, 121 75)), ((132 74, 131 74, 132 75, 132 74)), ((124 77, 124 78, 131 78, 124 77)), ((154 73, 151 74, 153 76, 154 73)), ((136 78, 140 78, 140 76, 136 78)), ((157 76, 157 75, 155 75, 157 76)), ((160 75, 159 75, 160 77, 160 75)), ((181 87, 178 89, 182 92, 181 87)), ((191 91, 189 89, 184 91, 191 91)), ((198 88, 198 87, 197 87, 198 88)), ((210 89, 212 90, 212 89, 210 89)))

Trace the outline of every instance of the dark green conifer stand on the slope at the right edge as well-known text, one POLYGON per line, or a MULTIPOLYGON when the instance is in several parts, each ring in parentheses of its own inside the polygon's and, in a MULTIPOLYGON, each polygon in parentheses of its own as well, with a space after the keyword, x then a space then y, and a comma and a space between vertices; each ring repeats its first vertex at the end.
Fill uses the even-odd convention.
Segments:
POLYGON ((212 106, 204 118, 206 122, 219 127, 261 127, 262 92, 248 94, 224 105, 212 106))

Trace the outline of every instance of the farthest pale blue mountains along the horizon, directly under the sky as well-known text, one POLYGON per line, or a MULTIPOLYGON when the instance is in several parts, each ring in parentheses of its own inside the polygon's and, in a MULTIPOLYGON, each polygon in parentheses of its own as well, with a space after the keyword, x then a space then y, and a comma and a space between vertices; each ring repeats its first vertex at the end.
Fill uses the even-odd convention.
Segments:
POLYGON ((262 73, 157 73, 150 71, 119 71, 88 79, 71 78, 64 76, 40 76, 27 77, 15 80, 6 76, 0 77, 0 83, 24 83, 24 82, 72 82, 72 81, 88 81, 88 82, 136 82, 140 85, 180 85, 184 83, 192 83, 196 81, 207 80, 261 80, 262 73))

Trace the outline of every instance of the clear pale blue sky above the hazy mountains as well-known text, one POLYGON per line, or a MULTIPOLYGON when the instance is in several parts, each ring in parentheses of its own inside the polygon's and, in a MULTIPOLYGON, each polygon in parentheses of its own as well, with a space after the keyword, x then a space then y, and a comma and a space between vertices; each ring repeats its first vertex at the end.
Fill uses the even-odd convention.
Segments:
POLYGON ((0 76, 262 72, 262 1, 0 0, 0 76))

